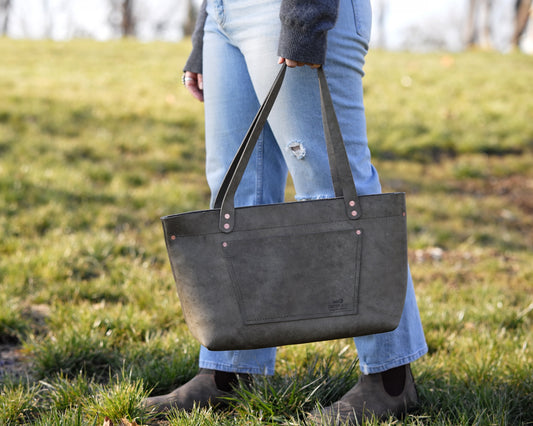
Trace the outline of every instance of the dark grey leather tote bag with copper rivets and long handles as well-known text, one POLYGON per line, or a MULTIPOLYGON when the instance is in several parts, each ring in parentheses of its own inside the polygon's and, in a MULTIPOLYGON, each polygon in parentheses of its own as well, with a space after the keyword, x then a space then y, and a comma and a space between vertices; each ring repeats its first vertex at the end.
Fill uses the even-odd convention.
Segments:
POLYGON ((391 331, 407 285, 405 194, 360 196, 322 68, 321 108, 335 197, 234 207, 281 87, 255 117, 210 210, 161 218, 183 314, 211 350, 391 331))

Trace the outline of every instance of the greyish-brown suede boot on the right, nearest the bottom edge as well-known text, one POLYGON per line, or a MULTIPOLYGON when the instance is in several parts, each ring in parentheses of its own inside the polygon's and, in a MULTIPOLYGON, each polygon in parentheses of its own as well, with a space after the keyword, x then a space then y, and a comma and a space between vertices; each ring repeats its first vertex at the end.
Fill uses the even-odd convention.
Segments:
POLYGON ((313 411, 309 420, 319 425, 358 425, 363 419, 402 416, 418 404, 409 365, 383 373, 362 375, 339 401, 313 411))

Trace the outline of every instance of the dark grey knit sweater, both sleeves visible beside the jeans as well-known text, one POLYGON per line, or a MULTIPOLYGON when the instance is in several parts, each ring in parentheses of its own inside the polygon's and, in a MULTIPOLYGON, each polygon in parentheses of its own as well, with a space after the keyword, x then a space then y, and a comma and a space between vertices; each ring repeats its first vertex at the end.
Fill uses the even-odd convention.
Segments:
MULTIPOLYGON (((335 26, 339 0, 282 0, 278 55, 294 61, 323 64, 327 32, 335 26)), ((192 35, 193 49, 184 71, 202 72, 202 47, 206 19, 203 1, 192 35)))

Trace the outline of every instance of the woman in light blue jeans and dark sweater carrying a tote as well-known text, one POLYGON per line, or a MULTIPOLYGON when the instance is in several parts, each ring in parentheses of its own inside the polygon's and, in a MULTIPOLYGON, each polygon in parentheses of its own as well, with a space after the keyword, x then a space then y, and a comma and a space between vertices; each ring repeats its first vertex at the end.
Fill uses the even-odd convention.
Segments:
MULTIPOLYGON (((290 68, 235 197, 236 206, 284 200, 287 171, 298 200, 333 198, 316 71, 323 66, 360 195, 381 192, 363 107, 370 0, 205 0, 183 82, 205 102, 206 174, 212 202, 279 64, 290 68)), ((358 383, 315 420, 399 415, 418 401, 409 364, 427 352, 411 277, 398 328, 354 339, 358 383)), ((276 348, 200 350, 200 371, 157 411, 217 405, 239 379, 273 374, 276 348)))

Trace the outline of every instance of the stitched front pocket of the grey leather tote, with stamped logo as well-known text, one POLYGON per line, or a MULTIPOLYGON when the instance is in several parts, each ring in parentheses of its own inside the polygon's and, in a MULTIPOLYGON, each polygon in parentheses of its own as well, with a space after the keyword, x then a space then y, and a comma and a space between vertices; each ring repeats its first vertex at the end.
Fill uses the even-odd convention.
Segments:
POLYGON ((357 314, 361 244, 362 231, 353 228, 224 242, 243 322, 357 314))

